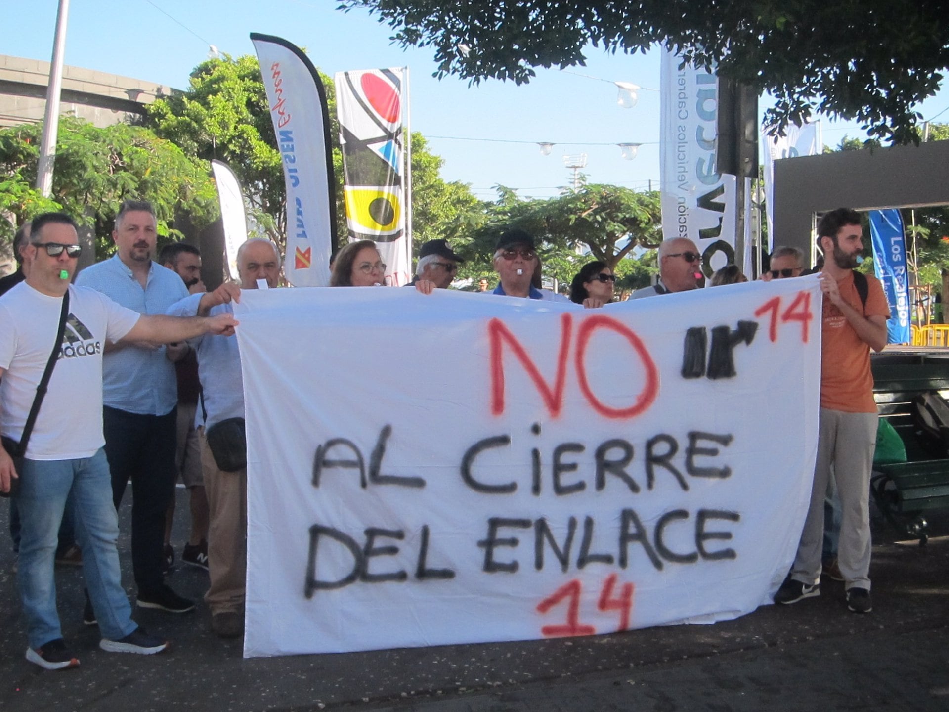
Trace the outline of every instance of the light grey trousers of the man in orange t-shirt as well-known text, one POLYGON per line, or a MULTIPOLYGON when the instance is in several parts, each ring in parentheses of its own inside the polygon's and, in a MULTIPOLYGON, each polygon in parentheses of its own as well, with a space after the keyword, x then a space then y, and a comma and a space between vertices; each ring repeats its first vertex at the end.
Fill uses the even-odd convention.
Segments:
POLYGON ((843 509, 837 562, 847 589, 870 589, 870 471, 876 444, 876 413, 821 408, 808 518, 791 567, 795 581, 813 586, 820 580, 824 497, 833 465, 843 509))

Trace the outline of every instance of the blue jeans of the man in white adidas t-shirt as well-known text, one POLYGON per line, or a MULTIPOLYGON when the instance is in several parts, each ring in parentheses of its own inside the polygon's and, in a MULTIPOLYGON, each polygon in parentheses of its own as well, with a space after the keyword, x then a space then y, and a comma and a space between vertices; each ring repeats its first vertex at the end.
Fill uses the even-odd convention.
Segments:
POLYGON ((24 461, 20 472, 18 581, 30 647, 63 637, 56 611, 53 561, 66 499, 71 497, 83 573, 102 637, 120 640, 138 626, 121 588, 119 516, 105 453, 88 459, 24 461))

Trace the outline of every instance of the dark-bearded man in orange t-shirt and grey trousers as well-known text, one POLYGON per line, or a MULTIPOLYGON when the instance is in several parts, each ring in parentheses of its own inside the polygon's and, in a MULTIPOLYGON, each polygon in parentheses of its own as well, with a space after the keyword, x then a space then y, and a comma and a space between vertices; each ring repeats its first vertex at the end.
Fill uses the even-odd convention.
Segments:
POLYGON ((857 275, 864 251, 860 215, 837 208, 817 224, 824 252, 821 290, 821 411, 808 518, 791 573, 774 594, 775 603, 791 604, 820 595, 824 497, 831 468, 843 507, 837 561, 847 590, 847 608, 868 613, 870 604, 869 481, 877 440, 870 348, 886 346, 889 307, 880 282, 857 275), (864 279, 865 300, 855 279, 864 279))

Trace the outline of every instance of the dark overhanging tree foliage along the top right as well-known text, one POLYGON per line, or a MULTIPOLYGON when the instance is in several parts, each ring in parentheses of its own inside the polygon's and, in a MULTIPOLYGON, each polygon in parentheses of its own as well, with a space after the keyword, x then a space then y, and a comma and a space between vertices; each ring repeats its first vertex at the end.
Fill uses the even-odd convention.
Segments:
POLYGON ((353 8, 394 28, 403 47, 432 47, 438 77, 520 84, 534 66, 583 65, 590 44, 635 52, 667 42, 770 92, 767 119, 778 130, 817 110, 899 143, 918 140, 912 106, 949 66, 945 0, 341 0, 353 8))

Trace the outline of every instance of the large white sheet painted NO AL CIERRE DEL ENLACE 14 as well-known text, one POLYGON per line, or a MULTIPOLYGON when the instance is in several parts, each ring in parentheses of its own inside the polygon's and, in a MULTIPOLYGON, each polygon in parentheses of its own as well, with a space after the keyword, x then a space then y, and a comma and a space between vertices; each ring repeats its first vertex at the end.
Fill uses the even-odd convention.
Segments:
POLYGON ((712 623, 791 566, 814 277, 581 309, 245 291, 245 656, 712 623))

